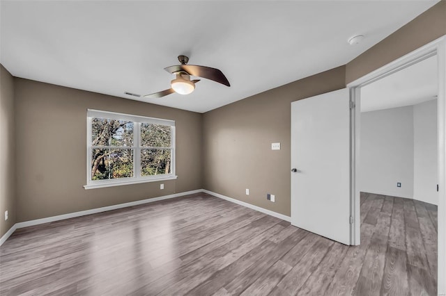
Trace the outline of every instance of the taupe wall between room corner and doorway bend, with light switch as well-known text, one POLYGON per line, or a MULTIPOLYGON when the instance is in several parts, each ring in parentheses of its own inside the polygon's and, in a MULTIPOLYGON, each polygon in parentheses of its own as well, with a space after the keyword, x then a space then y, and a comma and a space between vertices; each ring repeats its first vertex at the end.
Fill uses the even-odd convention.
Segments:
POLYGON ((203 188, 290 215, 291 102, 344 86, 343 66, 205 113, 203 188))

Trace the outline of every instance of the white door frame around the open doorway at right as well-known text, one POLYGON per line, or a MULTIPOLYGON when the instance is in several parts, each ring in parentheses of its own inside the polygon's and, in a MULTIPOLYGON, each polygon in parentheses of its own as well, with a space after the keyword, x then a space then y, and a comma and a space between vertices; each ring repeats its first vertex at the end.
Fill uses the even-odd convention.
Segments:
POLYGON ((360 244, 360 88, 431 56, 438 62, 438 294, 446 293, 446 35, 348 83, 351 109, 351 245, 360 244))

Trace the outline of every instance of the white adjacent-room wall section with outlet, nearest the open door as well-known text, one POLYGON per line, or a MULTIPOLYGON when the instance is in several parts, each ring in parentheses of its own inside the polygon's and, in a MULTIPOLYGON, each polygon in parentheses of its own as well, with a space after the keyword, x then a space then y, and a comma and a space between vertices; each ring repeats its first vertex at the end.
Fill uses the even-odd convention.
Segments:
POLYGON ((361 113, 362 192, 413 198, 413 135, 413 106, 361 113))

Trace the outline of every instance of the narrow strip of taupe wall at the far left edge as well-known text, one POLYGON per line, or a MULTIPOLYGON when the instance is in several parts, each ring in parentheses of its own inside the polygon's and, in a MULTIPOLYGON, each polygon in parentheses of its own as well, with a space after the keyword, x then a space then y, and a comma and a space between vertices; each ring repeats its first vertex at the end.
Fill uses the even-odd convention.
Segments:
POLYGON ((16 222, 14 135, 13 76, 0 65, 0 237, 16 222))

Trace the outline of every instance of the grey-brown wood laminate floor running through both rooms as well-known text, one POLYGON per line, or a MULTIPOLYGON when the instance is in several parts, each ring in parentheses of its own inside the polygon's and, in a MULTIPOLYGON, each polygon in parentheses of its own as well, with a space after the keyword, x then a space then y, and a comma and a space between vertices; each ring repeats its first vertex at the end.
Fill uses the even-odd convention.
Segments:
POLYGON ((357 247, 204 193, 18 229, 0 295, 436 295, 436 206, 361 213, 357 247))

